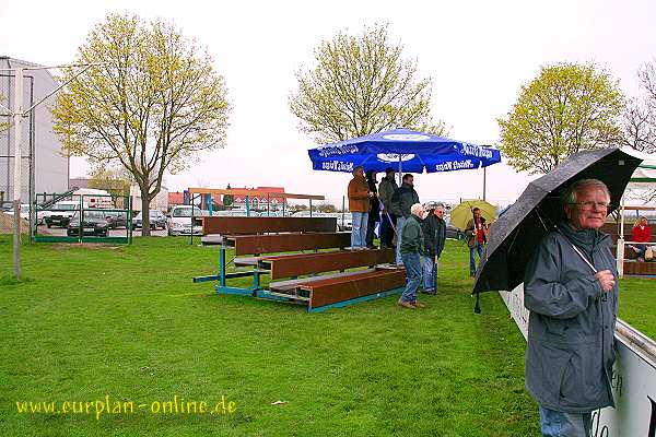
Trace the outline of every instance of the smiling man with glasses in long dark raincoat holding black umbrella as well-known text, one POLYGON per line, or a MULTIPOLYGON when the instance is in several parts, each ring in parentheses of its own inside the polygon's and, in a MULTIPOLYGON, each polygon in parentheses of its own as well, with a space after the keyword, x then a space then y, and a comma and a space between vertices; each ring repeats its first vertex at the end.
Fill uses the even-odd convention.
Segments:
POLYGON ((566 222, 526 267, 526 388, 539 403, 546 436, 588 436, 591 412, 614 406, 619 288, 611 238, 598 231, 609 201, 604 182, 574 182, 563 196, 566 222))

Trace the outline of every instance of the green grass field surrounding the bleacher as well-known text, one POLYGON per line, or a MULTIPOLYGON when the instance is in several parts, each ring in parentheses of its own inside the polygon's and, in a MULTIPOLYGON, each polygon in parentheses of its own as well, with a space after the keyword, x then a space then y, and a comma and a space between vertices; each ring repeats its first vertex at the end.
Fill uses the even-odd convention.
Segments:
MULTIPOLYGON (((459 244, 417 311, 395 296, 323 314, 218 296, 191 283, 215 271, 218 250, 181 238, 24 245, 23 258, 15 283, 0 237, 2 436, 539 435, 524 339, 496 294, 473 315, 459 244), (96 418, 106 395, 124 410, 96 418), (176 397, 236 411, 163 413, 176 397), (30 401, 82 412, 19 413, 30 401)), ((622 283, 621 317, 654 335, 652 284, 622 283)))

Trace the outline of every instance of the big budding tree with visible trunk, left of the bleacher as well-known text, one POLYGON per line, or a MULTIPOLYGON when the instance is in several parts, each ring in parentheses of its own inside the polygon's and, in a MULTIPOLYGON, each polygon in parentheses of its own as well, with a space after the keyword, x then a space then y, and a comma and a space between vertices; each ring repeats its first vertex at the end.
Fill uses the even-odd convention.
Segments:
POLYGON ((207 51, 172 24, 108 15, 75 61, 95 67, 59 94, 54 129, 72 155, 126 168, 142 211, 165 172, 188 168, 199 152, 223 146, 230 111, 223 78, 207 51))

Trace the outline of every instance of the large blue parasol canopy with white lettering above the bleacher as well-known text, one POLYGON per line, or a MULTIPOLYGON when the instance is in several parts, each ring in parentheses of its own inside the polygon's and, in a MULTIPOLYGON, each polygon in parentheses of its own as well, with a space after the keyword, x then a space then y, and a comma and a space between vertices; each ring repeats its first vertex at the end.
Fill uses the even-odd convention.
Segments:
POLYGON ((359 165, 378 173, 387 167, 399 173, 452 172, 487 167, 501 162, 493 147, 430 133, 395 129, 321 145, 307 151, 315 170, 353 172, 359 165))

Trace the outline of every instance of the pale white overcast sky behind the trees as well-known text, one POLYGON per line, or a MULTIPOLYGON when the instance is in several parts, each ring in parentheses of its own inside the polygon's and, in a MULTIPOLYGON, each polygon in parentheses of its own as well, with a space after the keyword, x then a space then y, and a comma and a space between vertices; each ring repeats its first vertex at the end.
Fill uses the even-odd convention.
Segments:
MULTIPOLYGON (((349 175, 314 172, 288 97, 294 72, 313 64, 313 50, 338 31, 360 34, 388 23, 391 40, 433 79, 436 118, 450 138, 499 141, 519 88, 541 66, 594 61, 637 93, 636 70, 656 57, 656 1, 8 1, 0 0, 0 55, 40 64, 73 60, 92 26, 107 13, 129 12, 174 22, 206 46, 225 78, 233 105, 226 147, 201 155, 194 168, 167 175, 169 190, 206 186, 283 186, 288 192, 341 198, 349 175)), ((71 176, 84 176, 83 160, 71 176)), ((378 178, 379 179, 379 178, 378 178)), ((487 197, 512 202, 530 178, 505 164, 488 169, 487 197)), ((422 201, 482 196, 482 170, 419 175, 422 201)))

